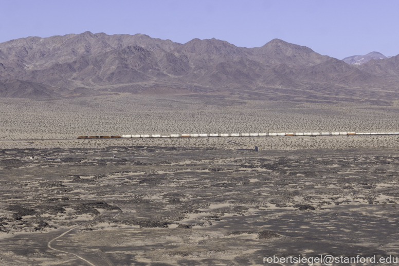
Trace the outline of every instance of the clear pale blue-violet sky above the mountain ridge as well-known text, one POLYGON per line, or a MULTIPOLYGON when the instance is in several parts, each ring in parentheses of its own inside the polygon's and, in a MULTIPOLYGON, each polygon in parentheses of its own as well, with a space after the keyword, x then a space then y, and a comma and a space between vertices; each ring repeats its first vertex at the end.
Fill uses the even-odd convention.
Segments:
POLYGON ((259 47, 275 38, 342 59, 399 53, 399 1, 3 0, 0 42, 84 31, 259 47))

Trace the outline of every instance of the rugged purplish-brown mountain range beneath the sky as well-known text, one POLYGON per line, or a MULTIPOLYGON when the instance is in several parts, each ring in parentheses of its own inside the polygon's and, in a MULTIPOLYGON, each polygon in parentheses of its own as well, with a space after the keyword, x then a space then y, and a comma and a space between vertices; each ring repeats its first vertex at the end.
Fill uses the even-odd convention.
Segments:
POLYGON ((139 93, 156 87, 197 88, 202 93, 315 86, 378 88, 383 80, 390 84, 398 80, 395 58, 354 66, 278 39, 262 47, 243 48, 216 39, 179 44, 143 34, 87 31, 1 43, 0 97, 88 96, 104 90, 139 93))

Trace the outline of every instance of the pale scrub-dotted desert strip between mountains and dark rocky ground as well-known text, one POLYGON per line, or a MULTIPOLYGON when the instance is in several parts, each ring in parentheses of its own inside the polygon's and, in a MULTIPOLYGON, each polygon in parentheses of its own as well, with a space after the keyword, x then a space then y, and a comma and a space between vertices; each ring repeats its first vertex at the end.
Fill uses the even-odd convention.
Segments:
MULTIPOLYGON (((142 96, 122 93, 114 96, 81 97, 59 100, 2 98, 0 139, 65 139, 78 136, 124 134, 191 134, 304 131, 397 131, 399 106, 361 103, 295 103, 265 100, 240 100, 226 97, 142 96)), ((396 137, 362 137, 374 142, 395 145, 396 137)), ((306 148, 303 138, 256 138, 259 146, 306 148), (272 140, 273 139, 273 140, 272 140)), ((306 138, 305 138, 306 139, 306 138)), ((337 142, 342 138, 329 138, 337 142)), ((346 140, 346 138, 343 138, 346 140)), ((108 145, 113 140, 70 141, 71 145, 108 145), (90 144, 92 143, 92 144, 90 144)), ((118 140, 117 143, 125 143, 118 140)), ((216 140, 128 140, 138 145, 216 145, 216 140)), ((226 146, 224 141, 219 146, 226 146), (221 144, 223 143, 223 144, 221 144)), ((306 141, 306 143, 309 141, 306 141)), ((347 141, 344 141, 347 142, 347 141)), ((44 143, 44 142, 40 142, 44 143)), ((64 143, 64 142, 62 142, 64 143)), ((312 140, 314 147, 319 141, 312 140)), ((357 143, 356 138, 353 143, 357 143)), ((12 147, 2 142, 3 147, 12 147)), ((20 144, 15 144, 20 145, 20 144)), ((63 145, 63 144, 62 144, 63 145)), ((307 145, 307 144, 306 144, 307 145)), ((356 144, 355 144, 356 145, 356 144)), ((381 144, 384 147, 385 144, 381 144)), ((220 146, 220 147, 222 147, 220 146)), ((16 147, 16 146, 15 146, 16 147)), ((27 146, 29 147, 29 145, 27 146)), ((310 146, 309 146, 310 147, 310 146)))

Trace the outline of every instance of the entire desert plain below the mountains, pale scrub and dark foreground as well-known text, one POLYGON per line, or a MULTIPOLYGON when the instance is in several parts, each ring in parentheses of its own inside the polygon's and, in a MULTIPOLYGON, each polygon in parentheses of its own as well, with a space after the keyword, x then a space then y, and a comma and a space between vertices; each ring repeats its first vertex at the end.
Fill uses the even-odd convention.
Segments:
POLYGON ((129 93, 0 101, 2 265, 398 255, 397 136, 76 139, 394 130, 396 102, 129 93))

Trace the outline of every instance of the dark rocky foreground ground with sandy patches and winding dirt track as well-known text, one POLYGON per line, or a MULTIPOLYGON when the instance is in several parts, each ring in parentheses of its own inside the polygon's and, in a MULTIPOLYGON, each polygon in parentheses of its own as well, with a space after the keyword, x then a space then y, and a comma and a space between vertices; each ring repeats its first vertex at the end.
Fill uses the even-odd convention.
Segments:
POLYGON ((0 151, 3 265, 397 256, 396 149, 0 151))

